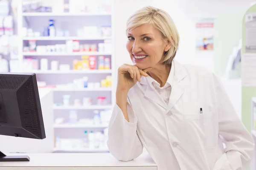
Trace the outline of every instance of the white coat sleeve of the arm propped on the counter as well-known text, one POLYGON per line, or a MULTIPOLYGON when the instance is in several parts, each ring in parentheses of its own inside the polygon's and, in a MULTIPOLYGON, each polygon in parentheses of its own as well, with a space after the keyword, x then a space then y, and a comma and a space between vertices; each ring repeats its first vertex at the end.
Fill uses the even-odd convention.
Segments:
POLYGON ((137 117, 129 102, 127 111, 129 122, 115 104, 108 127, 108 149, 119 161, 130 161, 143 152, 143 144, 137 135, 137 117))

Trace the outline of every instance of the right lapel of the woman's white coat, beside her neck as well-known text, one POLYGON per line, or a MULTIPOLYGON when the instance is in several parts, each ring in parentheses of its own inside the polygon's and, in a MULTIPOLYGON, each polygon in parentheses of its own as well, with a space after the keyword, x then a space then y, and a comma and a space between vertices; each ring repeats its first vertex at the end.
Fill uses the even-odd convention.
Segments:
POLYGON ((182 96, 185 85, 182 80, 187 76, 185 68, 180 65, 176 60, 173 60, 172 67, 174 66, 174 79, 172 82, 172 92, 169 98, 169 104, 166 113, 168 113, 177 101, 182 96))

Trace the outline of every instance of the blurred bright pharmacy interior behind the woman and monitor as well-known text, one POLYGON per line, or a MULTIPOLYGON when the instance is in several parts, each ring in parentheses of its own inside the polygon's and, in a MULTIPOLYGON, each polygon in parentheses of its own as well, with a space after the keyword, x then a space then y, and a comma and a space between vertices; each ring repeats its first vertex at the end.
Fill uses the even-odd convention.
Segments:
POLYGON ((175 59, 217 74, 239 118, 256 135, 255 3, 0 0, 0 72, 37 74, 47 134, 41 141, 0 136, 2 151, 108 152, 117 68, 131 64, 126 21, 148 5, 174 20, 180 34, 175 59), (20 147, 20 142, 26 144, 20 147))

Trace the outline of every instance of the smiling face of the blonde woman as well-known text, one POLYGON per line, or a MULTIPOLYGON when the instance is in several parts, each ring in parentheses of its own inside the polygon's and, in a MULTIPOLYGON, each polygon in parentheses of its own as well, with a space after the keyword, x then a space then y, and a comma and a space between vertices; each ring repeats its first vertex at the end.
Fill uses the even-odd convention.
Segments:
POLYGON ((134 65, 140 69, 154 68, 169 49, 168 41, 151 24, 127 31, 127 37, 126 49, 134 65))

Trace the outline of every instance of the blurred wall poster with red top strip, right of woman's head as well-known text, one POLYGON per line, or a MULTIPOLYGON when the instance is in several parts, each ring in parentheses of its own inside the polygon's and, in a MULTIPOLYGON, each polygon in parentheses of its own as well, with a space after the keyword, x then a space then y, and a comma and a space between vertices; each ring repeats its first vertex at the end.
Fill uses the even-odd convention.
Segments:
POLYGON ((209 51, 214 47, 214 19, 199 19, 196 22, 196 50, 209 51))

